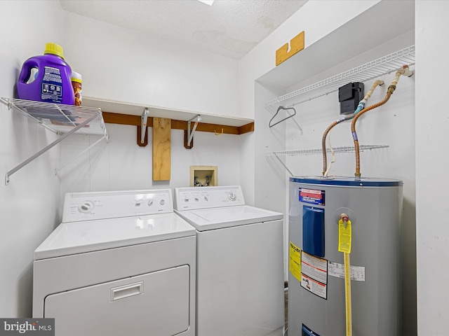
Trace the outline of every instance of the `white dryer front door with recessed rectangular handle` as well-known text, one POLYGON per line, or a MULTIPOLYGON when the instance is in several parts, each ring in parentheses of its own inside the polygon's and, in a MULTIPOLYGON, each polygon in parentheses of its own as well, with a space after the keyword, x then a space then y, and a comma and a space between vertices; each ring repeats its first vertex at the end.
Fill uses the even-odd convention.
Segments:
POLYGON ((64 336, 177 335, 189 329, 189 266, 48 295, 44 317, 64 336))

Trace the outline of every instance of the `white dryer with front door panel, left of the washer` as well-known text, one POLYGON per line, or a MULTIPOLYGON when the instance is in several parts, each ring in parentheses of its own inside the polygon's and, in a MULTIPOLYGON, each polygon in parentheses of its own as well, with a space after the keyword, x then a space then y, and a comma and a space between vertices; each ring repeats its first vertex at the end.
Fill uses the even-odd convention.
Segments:
POLYGON ((65 195, 34 251, 33 316, 60 336, 194 336, 196 231, 171 190, 65 195))

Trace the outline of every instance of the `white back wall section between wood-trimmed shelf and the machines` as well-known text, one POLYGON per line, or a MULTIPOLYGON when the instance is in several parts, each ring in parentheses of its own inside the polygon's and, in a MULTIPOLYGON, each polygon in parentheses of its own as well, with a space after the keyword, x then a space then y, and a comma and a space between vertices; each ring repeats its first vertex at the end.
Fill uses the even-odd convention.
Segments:
MULTIPOLYGON (((152 127, 148 129, 150 144, 136 144, 137 127, 107 124, 109 144, 102 141, 63 168, 61 192, 74 193, 100 190, 139 190, 189 186, 189 166, 217 166, 220 186, 239 184, 240 141, 230 134, 196 132, 194 148, 185 149, 184 132, 171 131, 171 179, 153 180, 152 127)), ((62 160, 72 158, 97 137, 75 135, 61 143, 62 160)), ((61 195, 61 196, 62 196, 61 195)))

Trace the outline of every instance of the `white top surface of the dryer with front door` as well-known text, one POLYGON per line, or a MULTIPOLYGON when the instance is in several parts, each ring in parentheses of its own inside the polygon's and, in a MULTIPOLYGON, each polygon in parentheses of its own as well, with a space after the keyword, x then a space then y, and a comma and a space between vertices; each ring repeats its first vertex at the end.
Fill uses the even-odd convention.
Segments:
POLYGON ((194 236, 175 213, 61 223, 34 251, 34 260, 194 236))

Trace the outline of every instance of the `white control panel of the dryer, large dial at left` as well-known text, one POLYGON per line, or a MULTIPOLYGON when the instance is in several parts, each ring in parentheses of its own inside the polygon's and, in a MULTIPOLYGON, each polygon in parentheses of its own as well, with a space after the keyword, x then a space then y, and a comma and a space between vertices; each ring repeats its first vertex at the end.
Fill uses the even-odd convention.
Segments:
POLYGON ((173 212, 170 189, 67 193, 62 222, 145 216, 173 212))

